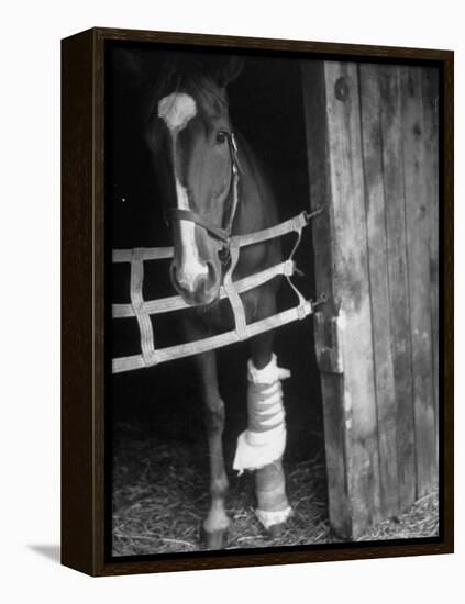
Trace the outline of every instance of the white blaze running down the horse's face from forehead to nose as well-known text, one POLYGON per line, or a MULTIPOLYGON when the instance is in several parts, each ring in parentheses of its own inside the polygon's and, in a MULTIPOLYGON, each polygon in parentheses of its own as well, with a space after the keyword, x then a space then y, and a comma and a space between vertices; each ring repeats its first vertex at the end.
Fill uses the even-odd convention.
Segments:
MULTIPOLYGON (((184 92, 173 92, 173 94, 164 97, 158 102, 158 116, 162 118, 168 126, 173 138, 173 150, 175 155, 178 133, 186 127, 189 120, 195 115, 197 115, 196 101, 192 97, 184 92)), ((179 182, 178 175, 176 174, 176 157, 174 164, 177 205, 180 210, 190 210, 187 189, 179 182)), ((208 273, 208 267, 201 262, 199 257, 196 245, 195 223, 180 220, 179 228, 182 246, 179 282, 182 287, 192 289, 196 279, 208 273)))

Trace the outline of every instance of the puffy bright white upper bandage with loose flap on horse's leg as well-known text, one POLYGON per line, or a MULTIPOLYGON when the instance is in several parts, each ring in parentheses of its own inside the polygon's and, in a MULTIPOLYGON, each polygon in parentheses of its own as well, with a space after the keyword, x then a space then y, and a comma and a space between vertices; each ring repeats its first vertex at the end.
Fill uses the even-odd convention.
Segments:
POLYGON ((280 380, 290 377, 276 363, 276 355, 263 369, 248 361, 248 427, 237 438, 233 468, 257 470, 279 459, 286 447, 286 422, 280 380))

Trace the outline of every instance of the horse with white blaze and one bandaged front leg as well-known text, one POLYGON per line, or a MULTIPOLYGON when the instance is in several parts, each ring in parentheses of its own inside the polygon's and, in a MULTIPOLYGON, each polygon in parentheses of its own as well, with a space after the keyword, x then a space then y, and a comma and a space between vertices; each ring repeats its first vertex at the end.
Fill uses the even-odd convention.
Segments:
MULTIPOLYGON (((265 170, 230 118, 228 87, 243 61, 229 57, 211 65, 207 56, 164 66, 150 93, 145 141, 154 176, 163 182, 163 204, 174 257, 170 281, 189 305, 182 314, 188 342, 231 328, 228 300, 220 287, 231 266, 231 237, 278 223, 277 203, 265 170)), ((281 261, 278 238, 241 249, 234 280, 281 261)), ((246 322, 276 313, 279 279, 242 294, 246 322)), ((286 494, 283 452, 286 441, 280 381, 273 331, 250 339, 248 426, 237 439, 234 468, 255 471, 256 515, 272 536, 281 534, 291 508, 286 494)), ((225 547, 230 519, 222 436, 225 410, 220 394, 217 354, 192 357, 206 409, 210 460, 210 508, 202 523, 207 549, 225 547)))

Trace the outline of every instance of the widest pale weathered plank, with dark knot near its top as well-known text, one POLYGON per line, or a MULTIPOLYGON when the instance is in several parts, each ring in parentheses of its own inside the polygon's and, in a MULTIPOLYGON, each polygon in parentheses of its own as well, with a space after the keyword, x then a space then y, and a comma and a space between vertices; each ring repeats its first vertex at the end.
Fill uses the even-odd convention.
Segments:
POLYGON ((347 483, 353 538, 381 517, 370 298, 355 64, 325 63, 334 303, 343 326, 347 483))

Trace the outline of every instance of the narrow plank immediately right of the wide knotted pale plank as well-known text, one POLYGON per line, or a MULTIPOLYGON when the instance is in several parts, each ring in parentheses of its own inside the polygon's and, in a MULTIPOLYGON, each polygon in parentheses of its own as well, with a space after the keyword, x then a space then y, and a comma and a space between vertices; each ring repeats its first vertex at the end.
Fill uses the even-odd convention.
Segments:
POLYGON ((388 279, 383 170, 383 98, 378 77, 379 66, 362 64, 358 69, 381 514, 389 517, 398 512, 399 496, 397 404, 390 327, 392 300, 388 279))

